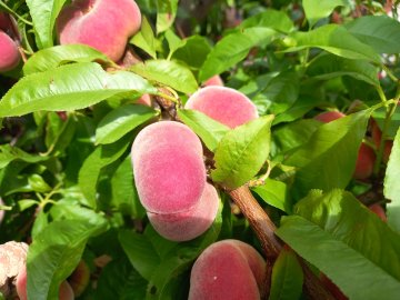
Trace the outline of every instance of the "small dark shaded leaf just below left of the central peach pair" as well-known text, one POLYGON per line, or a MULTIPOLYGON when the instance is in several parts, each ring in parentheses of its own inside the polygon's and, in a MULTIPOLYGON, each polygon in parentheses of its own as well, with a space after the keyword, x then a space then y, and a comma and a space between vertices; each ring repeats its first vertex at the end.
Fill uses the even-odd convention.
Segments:
POLYGON ((123 251, 133 268, 147 280, 150 280, 161 259, 146 236, 132 231, 121 231, 118 236, 123 251))

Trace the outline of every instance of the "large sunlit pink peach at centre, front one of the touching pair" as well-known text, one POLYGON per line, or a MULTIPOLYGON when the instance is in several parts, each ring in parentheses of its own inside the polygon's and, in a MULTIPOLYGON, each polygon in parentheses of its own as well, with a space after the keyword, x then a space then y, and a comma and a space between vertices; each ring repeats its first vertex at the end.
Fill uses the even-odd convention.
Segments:
POLYGON ((198 204, 206 186, 200 139, 189 127, 161 121, 146 127, 131 150, 133 176, 148 212, 178 213, 198 204))

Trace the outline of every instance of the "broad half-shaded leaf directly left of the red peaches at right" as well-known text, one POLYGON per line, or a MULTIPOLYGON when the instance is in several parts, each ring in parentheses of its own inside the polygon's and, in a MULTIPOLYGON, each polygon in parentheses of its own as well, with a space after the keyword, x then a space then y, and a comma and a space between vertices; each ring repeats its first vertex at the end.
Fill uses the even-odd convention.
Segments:
POLYGON ((298 168, 294 189, 344 188, 352 178, 371 110, 324 123, 284 161, 298 168))

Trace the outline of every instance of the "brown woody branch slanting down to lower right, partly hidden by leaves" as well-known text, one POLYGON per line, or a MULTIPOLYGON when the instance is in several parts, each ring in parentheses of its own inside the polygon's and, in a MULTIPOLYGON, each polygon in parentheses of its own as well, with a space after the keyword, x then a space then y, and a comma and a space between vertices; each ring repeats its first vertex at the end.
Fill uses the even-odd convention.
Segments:
MULTIPOLYGON (((234 203, 240 208, 241 212, 249 220, 257 238, 261 242, 261 247, 266 253, 267 261, 272 264, 278 258, 282 242, 274 236, 276 226, 268 217, 267 212, 260 207, 247 186, 242 186, 236 190, 229 191, 234 203)), ((333 300, 334 298, 328 292, 319 278, 308 268, 307 263, 299 257, 300 264, 304 273, 304 288, 309 298, 312 300, 333 300)), ((272 268, 267 269, 267 280, 270 284, 272 268)), ((269 294, 269 286, 266 296, 269 294)))

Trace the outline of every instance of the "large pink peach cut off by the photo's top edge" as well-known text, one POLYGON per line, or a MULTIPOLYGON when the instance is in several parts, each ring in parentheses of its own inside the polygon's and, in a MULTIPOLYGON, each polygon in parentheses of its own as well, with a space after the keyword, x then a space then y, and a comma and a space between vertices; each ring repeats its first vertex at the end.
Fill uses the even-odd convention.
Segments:
POLYGON ((76 0, 61 10, 57 31, 61 44, 88 44, 118 61, 140 24, 133 0, 76 0))

